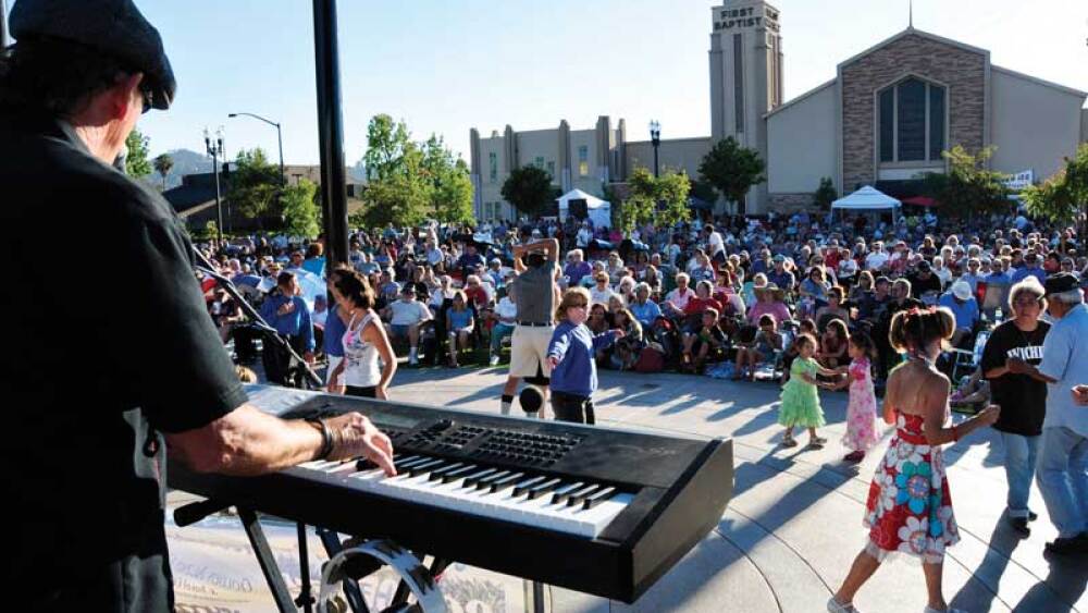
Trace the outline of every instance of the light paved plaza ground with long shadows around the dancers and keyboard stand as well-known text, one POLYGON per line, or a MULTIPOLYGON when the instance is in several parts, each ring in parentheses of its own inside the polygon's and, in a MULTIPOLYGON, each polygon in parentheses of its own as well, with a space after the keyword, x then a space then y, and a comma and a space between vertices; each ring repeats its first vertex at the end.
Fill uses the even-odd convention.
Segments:
MULTIPOLYGON (((504 368, 403 368, 391 395, 397 401, 497 412, 505 376, 504 368)), ((825 601, 864 543, 864 503, 883 445, 860 466, 842 462, 844 452, 838 440, 844 431, 846 394, 821 395, 828 420, 823 434, 830 439, 829 444, 820 451, 784 449, 778 445, 777 385, 682 375, 602 372, 595 396, 599 424, 731 438, 735 490, 718 527, 634 605, 556 588, 551 590, 551 610, 824 611, 825 601)), ((802 443, 804 440, 802 436, 802 443)), ((970 612, 1088 613, 1088 560, 1043 555, 1043 543, 1055 532, 1038 491, 1031 494, 1031 506, 1040 515, 1031 537, 1021 539, 1004 525, 1001 457, 1000 439, 989 430, 947 450, 963 538, 947 557, 945 594, 950 603, 970 612)), ((183 499, 172 500, 176 504, 183 499)), ((297 564, 289 567, 294 531, 273 527, 270 534, 283 556, 285 573, 297 573, 297 564)), ((262 600, 267 591, 260 585, 260 572, 247 557, 248 545, 235 519, 209 519, 186 529, 171 526, 169 535, 181 602, 220 603, 231 611, 271 608, 270 601, 262 600), (222 551, 211 551, 215 547, 222 551), (224 578, 232 576, 244 576, 233 579, 243 585, 224 578)), ((374 581, 368 589, 379 593, 394 585, 390 577, 374 581)), ((457 566, 443 586, 455 610, 526 610, 522 583, 494 573, 457 566)), ((855 605, 865 612, 920 613, 925 605, 920 566, 886 564, 857 596, 855 605)))

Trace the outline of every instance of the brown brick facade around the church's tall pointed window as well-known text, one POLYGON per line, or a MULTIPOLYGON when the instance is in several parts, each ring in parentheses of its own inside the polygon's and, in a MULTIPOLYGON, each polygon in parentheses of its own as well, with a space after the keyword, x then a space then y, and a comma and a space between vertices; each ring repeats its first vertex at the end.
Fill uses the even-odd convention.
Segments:
POLYGON ((876 182, 874 168, 874 94, 891 81, 913 73, 949 86, 948 147, 982 148, 986 56, 917 34, 881 47, 842 66, 842 189, 876 182))

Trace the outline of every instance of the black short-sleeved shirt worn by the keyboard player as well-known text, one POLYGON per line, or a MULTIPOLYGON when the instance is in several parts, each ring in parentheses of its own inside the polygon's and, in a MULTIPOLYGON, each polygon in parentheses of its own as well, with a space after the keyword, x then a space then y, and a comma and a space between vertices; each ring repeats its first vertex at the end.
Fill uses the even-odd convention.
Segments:
POLYGON ((0 160, 4 584, 55 610, 164 610, 158 432, 246 395, 165 200, 47 118, 0 109, 0 160))

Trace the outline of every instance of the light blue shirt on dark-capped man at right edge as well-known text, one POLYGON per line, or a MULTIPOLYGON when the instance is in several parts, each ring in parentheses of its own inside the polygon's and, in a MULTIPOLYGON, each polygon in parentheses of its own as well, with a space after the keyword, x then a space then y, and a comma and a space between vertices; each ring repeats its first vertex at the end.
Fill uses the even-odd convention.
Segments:
POLYGON ((1088 407, 1073 401, 1074 385, 1088 383, 1088 306, 1073 307, 1050 327, 1042 343, 1039 372, 1058 379, 1047 383, 1046 428, 1068 428, 1088 437, 1088 407))

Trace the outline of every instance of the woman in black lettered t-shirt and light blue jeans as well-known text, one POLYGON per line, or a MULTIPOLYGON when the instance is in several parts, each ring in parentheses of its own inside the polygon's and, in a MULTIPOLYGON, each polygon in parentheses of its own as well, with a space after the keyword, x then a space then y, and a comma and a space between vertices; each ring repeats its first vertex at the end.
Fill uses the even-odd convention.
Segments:
POLYGON ((1042 342, 1050 330, 1049 323, 1039 321, 1046 303, 1042 285, 1034 277, 1013 285, 1009 305, 1014 318, 993 330, 981 361, 982 373, 990 380, 992 402, 1001 406, 1001 417, 993 427, 1001 432, 1005 446, 1007 517, 1023 535, 1030 534, 1027 524, 1035 519, 1027 503, 1046 416, 1047 384, 1011 372, 1005 363, 1013 357, 1031 365, 1042 360, 1042 342))

